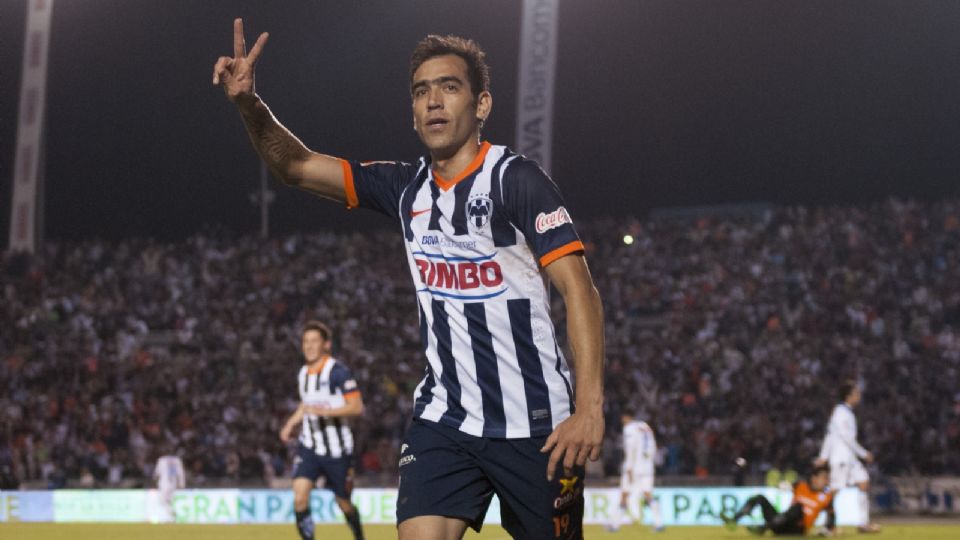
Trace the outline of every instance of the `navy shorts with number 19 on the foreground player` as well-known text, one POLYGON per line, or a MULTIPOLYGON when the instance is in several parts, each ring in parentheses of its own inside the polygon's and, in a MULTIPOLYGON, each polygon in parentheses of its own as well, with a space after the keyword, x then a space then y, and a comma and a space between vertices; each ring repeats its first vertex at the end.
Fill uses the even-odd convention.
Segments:
POLYGON ((397 523, 417 516, 466 521, 479 531, 496 493, 514 538, 583 538, 583 467, 547 481, 547 438, 492 439, 414 419, 400 451, 397 523))

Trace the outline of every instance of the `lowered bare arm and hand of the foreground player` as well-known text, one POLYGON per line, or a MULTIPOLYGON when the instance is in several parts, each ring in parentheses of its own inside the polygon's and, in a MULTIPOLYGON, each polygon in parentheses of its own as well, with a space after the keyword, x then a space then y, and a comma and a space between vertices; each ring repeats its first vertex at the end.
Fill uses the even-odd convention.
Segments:
POLYGON ((573 351, 576 412, 557 425, 541 452, 550 452, 547 480, 557 463, 584 465, 600 458, 603 442, 603 304, 586 259, 580 254, 560 257, 546 267, 550 281, 567 307, 567 339, 573 351))

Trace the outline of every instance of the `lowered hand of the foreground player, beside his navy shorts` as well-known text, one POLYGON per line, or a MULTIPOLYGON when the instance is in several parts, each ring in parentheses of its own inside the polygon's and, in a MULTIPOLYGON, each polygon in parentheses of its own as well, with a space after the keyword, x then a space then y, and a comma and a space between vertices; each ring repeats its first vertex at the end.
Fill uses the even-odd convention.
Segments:
POLYGON ((586 414, 576 412, 557 425, 547 437, 540 452, 550 452, 547 461, 547 480, 553 480, 557 463, 563 460, 564 469, 574 465, 583 466, 590 461, 600 459, 600 445, 603 443, 603 413, 586 414))

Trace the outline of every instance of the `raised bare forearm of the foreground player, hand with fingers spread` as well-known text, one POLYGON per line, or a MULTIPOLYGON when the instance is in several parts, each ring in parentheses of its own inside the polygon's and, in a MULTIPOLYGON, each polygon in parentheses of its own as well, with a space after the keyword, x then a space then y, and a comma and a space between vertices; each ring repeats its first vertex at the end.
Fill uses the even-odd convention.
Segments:
POLYGON ((269 34, 260 34, 247 53, 243 20, 233 21, 233 57, 221 56, 213 66, 213 84, 223 87, 237 106, 247 135, 260 158, 284 184, 344 202, 345 162, 307 148, 285 128, 256 94, 254 71, 269 34))

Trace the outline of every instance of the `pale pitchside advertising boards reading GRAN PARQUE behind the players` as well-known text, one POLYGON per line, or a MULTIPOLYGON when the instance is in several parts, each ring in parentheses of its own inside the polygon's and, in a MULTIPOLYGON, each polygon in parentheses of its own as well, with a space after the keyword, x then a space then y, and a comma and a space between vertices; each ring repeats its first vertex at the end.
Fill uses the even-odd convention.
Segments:
MULTIPOLYGON (((756 494, 766 496, 775 507, 785 509, 792 494, 776 488, 658 488, 664 524, 720 525, 720 513, 735 511, 756 494)), ((617 489, 584 492, 584 521, 606 524, 620 500, 617 489)), ((392 524, 396 516, 396 489, 356 489, 354 504, 364 523, 392 524)), ((310 501, 317 523, 342 523, 343 516, 333 494, 315 490, 310 501)), ((841 491, 835 500, 837 522, 860 522, 855 489, 841 491)), ((635 501, 631 501, 636 514, 635 501)), ((173 496, 173 521, 177 523, 293 523, 293 493, 278 489, 185 489, 173 496)), ((649 522, 649 512, 643 521, 649 522)), ((760 523, 759 509, 741 524, 760 523)), ((822 519, 822 516, 821 516, 822 519)), ((129 522, 157 523, 169 513, 156 490, 57 490, 0 492, 0 521, 129 522)), ((500 523, 496 497, 485 523, 500 523)))

